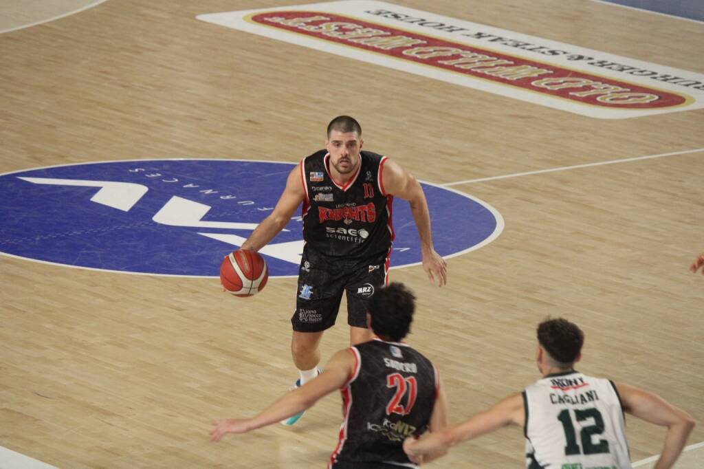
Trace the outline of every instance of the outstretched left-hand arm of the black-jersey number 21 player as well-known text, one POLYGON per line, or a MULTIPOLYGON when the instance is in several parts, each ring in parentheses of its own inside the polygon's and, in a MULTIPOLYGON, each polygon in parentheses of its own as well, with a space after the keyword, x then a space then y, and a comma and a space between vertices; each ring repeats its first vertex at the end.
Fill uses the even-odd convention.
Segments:
POLYGON ((274 404, 253 418, 228 418, 213 423, 210 441, 219 442, 227 433, 246 433, 272 423, 277 423, 298 412, 305 411, 318 399, 344 386, 354 368, 350 349, 338 351, 325 365, 325 371, 294 391, 284 394, 274 404))

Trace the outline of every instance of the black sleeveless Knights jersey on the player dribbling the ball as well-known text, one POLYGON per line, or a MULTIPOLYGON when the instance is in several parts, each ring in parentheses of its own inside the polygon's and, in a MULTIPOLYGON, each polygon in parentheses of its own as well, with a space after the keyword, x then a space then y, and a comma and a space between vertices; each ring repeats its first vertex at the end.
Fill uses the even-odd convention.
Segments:
POLYGON ((394 228, 384 192, 386 156, 361 151, 357 173, 340 186, 329 173, 329 154, 320 150, 301 161, 303 239, 325 256, 363 260, 389 256, 394 228))

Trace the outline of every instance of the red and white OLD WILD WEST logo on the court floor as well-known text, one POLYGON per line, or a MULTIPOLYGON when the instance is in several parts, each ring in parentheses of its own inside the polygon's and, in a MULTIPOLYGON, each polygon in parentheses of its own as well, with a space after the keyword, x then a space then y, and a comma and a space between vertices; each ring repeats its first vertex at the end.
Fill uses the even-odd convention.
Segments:
POLYGON ((596 118, 704 107, 704 75, 382 1, 201 20, 596 118))

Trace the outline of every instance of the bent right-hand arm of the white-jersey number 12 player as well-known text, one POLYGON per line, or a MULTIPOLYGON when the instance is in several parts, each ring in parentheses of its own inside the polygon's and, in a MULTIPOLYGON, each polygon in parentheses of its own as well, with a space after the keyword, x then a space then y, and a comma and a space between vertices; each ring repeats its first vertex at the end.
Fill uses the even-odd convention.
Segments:
POLYGON ((660 396, 628 384, 617 383, 624 411, 646 422, 667 427, 665 445, 654 469, 669 469, 677 461, 689 434, 694 428, 691 415, 668 403, 660 396))

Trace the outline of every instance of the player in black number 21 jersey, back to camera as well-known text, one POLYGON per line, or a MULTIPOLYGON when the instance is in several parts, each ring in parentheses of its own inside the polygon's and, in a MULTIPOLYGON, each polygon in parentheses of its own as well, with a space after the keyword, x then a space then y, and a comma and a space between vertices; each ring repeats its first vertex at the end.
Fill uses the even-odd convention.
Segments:
POLYGON ((401 342, 413 320, 414 300, 403 284, 379 289, 365 315, 376 337, 338 351, 320 376, 284 395, 256 417, 215 423, 210 439, 218 442, 226 433, 271 425, 339 389, 344 422, 328 467, 415 468, 403 452, 403 440, 447 425, 447 408, 434 365, 401 342))

